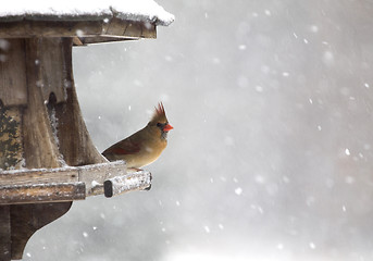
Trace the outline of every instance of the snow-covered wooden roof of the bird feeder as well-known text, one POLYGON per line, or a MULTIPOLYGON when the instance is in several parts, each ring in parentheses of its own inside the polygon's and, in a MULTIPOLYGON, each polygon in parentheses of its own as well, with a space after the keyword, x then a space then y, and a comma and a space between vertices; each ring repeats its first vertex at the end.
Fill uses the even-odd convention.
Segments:
POLYGON ((156 38, 174 15, 153 0, 13 0, 0 9, 0 38, 75 37, 75 45, 156 38))

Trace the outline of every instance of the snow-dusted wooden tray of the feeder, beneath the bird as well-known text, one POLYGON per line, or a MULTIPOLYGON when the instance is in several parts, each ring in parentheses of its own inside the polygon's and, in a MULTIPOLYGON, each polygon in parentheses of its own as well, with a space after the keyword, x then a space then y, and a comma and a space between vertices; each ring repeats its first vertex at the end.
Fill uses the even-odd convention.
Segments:
POLYGON ((124 161, 85 166, 0 172, 0 204, 69 201, 102 195, 112 197, 148 189, 151 173, 127 174, 124 161))

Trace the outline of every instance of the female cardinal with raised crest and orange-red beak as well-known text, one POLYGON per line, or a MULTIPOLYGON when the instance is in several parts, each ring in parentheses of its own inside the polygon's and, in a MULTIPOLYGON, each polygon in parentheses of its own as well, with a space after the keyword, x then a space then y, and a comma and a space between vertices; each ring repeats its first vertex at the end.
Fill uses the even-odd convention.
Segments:
POLYGON ((105 149, 102 154, 110 161, 124 160, 127 167, 139 169, 156 161, 167 146, 167 133, 173 129, 165 116, 162 102, 148 125, 105 149))

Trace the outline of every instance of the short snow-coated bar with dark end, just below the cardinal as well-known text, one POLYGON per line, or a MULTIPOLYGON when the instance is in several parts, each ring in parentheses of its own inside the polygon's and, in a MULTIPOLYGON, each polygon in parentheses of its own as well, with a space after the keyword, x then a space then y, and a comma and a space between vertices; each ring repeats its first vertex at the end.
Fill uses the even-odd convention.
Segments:
POLYGON ((151 173, 138 171, 124 176, 115 176, 104 182, 104 196, 111 198, 121 194, 150 189, 151 173))

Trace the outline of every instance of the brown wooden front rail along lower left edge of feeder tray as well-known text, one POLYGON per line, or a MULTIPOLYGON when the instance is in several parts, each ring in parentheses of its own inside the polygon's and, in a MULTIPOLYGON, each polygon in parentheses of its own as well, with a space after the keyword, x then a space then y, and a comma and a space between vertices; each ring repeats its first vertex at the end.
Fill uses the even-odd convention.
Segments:
POLYGON ((86 198, 84 183, 9 185, 0 187, 0 204, 65 202, 86 198))

